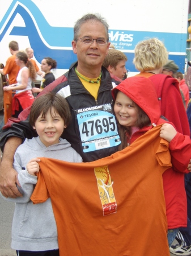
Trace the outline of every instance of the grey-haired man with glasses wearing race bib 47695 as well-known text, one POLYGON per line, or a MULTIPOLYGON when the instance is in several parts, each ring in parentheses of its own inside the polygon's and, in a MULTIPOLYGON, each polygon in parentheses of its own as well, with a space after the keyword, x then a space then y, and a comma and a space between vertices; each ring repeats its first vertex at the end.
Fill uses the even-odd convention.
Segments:
MULTIPOLYGON (((65 130, 65 138, 84 162, 111 155, 120 144, 111 95, 113 86, 120 82, 112 80, 107 69, 101 67, 108 53, 108 40, 108 24, 104 18, 87 14, 77 20, 72 46, 78 62, 41 92, 51 90, 66 98, 72 121, 65 130)), ((0 166, 0 190, 6 197, 22 196, 16 187, 19 182, 12 162, 24 138, 36 136, 28 123, 28 114, 29 109, 24 110, 19 115, 19 123, 7 123, 1 134, 1 147, 5 147, 0 166)))

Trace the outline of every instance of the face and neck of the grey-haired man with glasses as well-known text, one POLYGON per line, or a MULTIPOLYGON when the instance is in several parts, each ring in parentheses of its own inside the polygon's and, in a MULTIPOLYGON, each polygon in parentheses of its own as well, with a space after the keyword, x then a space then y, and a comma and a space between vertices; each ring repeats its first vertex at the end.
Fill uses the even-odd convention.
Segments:
MULTIPOLYGON (((78 38, 83 38, 84 36, 92 39, 107 39, 103 24, 96 20, 88 20, 82 24, 78 38)), ((95 40, 92 44, 84 44, 81 40, 73 40, 73 51, 78 57, 78 71, 82 73, 84 70, 101 69, 101 64, 108 53, 109 44, 99 45, 95 40)))

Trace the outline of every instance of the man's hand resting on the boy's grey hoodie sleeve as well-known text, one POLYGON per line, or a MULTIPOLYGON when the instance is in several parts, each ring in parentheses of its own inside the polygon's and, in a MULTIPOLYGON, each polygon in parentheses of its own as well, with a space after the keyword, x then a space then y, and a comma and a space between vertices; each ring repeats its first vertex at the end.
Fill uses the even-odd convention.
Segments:
POLYGON ((22 193, 19 192, 16 184, 19 184, 17 178, 18 172, 14 168, 9 168, 6 162, 2 162, 0 166, 0 191, 5 197, 20 197, 22 193))

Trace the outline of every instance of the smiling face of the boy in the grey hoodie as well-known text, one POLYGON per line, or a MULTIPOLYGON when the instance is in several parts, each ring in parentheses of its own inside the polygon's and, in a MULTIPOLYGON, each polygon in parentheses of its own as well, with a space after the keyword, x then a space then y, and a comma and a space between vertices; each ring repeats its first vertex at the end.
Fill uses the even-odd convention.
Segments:
POLYGON ((63 129, 66 128, 63 119, 54 111, 54 109, 51 109, 51 111, 49 109, 45 118, 43 118, 41 114, 33 127, 36 129, 41 142, 43 142, 46 147, 59 143, 59 138, 63 133, 63 129))

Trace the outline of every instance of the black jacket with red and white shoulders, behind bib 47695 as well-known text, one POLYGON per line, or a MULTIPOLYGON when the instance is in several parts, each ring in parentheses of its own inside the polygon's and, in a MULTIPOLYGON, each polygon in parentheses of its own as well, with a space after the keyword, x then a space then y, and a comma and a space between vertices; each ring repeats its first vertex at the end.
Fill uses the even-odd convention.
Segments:
MULTIPOLYGON (((46 86, 40 95, 52 91, 59 93, 66 98, 70 106, 72 121, 65 129, 62 138, 65 138, 71 143, 71 146, 82 156, 84 162, 91 162, 113 154, 117 151, 117 146, 91 152, 83 152, 76 112, 78 109, 102 104, 111 104, 113 108, 111 90, 113 89, 113 86, 120 84, 120 82, 113 80, 107 69, 102 67, 101 84, 97 100, 95 101, 95 98, 86 90, 86 88, 84 88, 82 82, 76 75, 74 70, 76 66, 77 63, 75 63, 69 71, 65 73, 65 75, 59 77, 52 82, 52 84, 46 86)), ((36 131, 33 130, 32 126, 28 122, 30 109, 31 108, 27 108, 23 110, 19 115, 18 121, 9 119, 6 126, 4 126, 0 135, 0 146, 2 149, 9 137, 19 137, 24 141, 25 138, 37 136, 36 131)))

